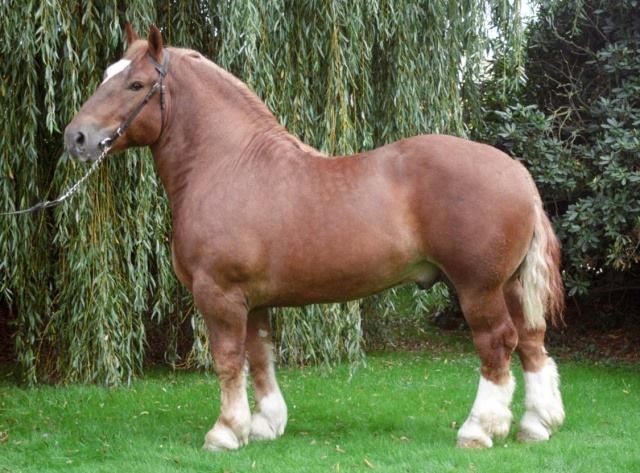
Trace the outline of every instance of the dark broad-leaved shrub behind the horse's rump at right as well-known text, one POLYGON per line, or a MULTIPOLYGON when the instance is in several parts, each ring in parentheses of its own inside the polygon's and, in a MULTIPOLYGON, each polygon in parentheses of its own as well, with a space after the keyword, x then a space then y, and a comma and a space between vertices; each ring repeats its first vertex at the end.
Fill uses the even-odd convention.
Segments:
POLYGON ((526 36, 526 80, 484 84, 474 137, 524 159, 536 179, 579 323, 637 330, 640 2, 545 0, 526 36))

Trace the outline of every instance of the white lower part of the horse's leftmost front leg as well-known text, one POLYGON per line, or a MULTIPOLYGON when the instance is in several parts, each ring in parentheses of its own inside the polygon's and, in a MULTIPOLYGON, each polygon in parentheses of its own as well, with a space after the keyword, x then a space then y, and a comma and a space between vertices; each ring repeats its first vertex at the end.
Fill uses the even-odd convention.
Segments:
POLYGON ((205 450, 212 452, 235 450, 249 441, 251 411, 249 410, 244 370, 241 376, 242 381, 237 391, 222 392, 220 417, 204 438, 202 448, 205 450), (223 415, 226 422, 221 421, 223 415))

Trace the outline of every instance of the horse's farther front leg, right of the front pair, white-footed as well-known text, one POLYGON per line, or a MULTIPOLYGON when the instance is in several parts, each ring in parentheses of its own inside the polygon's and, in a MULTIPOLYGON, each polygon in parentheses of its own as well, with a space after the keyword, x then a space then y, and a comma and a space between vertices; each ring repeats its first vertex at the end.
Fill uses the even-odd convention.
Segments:
POLYGON ((251 439, 272 440, 284 432, 287 405, 276 381, 267 309, 249 314, 247 357, 256 395, 256 409, 251 416, 251 439))

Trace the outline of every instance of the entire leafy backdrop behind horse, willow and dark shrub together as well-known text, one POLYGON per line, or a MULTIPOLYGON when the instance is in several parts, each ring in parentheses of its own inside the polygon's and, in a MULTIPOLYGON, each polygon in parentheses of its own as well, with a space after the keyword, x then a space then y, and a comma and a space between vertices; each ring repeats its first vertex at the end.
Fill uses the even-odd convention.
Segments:
MULTIPOLYGON (((633 299, 637 2, 541 0, 528 29, 519 3, 0 0, 2 208, 52 198, 83 174, 62 150, 62 130, 122 54, 124 21, 141 34, 155 23, 169 44, 246 81, 292 133, 327 153, 424 132, 497 143, 525 161, 556 216, 576 305, 598 294, 633 299)), ((108 160, 64 206, 0 219, 0 330, 9 322, 0 343, 13 345, 25 381, 118 384, 151 357, 211 365, 203 324, 171 269, 169 223, 145 150, 108 160)), ((446 301, 442 287, 401 289, 279 310, 278 355, 358 361, 363 330, 384 332, 398 305, 418 314, 446 301)))

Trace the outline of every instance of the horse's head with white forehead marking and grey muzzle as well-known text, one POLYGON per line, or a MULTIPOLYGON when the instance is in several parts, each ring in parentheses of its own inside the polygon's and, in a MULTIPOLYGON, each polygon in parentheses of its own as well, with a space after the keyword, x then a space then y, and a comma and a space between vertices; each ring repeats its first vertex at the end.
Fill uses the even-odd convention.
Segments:
POLYGON ((146 41, 126 25, 128 48, 104 73, 102 84, 67 125, 64 141, 81 161, 97 159, 105 147, 117 153, 154 143, 162 131, 168 53, 152 26, 146 41))

